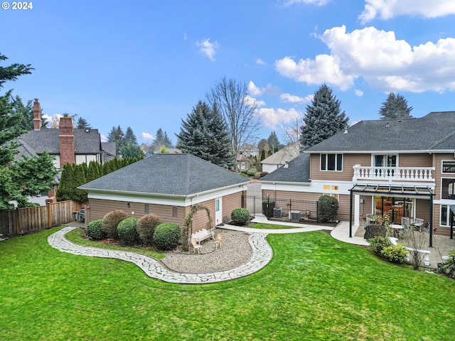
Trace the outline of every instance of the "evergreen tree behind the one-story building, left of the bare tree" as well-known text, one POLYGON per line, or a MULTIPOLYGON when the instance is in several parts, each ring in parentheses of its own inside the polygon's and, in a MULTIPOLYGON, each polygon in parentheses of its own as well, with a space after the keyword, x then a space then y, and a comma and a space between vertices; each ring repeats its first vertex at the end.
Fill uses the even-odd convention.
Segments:
POLYGON ((232 166, 230 137, 223 117, 205 102, 199 101, 186 120, 182 119, 177 148, 191 153, 215 165, 232 166))

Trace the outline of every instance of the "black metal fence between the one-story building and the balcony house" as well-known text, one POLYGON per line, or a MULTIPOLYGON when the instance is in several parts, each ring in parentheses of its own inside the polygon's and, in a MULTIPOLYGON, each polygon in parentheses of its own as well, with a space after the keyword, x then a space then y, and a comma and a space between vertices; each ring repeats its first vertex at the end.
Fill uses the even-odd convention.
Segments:
POLYGON ((318 202, 242 196, 242 207, 251 215, 265 215, 270 220, 289 222, 318 222, 318 202))

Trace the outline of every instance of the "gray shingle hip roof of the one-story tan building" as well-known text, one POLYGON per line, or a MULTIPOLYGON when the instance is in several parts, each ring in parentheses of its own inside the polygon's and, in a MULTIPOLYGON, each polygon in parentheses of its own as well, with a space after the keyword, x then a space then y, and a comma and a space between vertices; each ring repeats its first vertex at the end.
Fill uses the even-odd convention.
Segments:
POLYGON ((80 186, 86 190, 192 195, 250 180, 191 154, 152 154, 80 186))

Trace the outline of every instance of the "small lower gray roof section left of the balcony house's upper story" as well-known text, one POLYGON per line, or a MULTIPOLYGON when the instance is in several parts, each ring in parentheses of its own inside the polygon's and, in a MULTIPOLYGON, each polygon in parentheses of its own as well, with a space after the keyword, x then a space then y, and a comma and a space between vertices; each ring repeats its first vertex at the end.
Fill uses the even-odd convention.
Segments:
POLYGON ((310 183, 310 155, 300 154, 294 160, 289 161, 287 168, 281 167, 269 175, 261 178, 261 181, 277 181, 291 183, 310 183))

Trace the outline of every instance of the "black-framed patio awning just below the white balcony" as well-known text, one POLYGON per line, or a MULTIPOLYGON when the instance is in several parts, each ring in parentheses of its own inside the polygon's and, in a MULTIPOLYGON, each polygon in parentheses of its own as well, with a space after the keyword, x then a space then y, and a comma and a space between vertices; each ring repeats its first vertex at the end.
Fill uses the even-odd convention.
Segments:
POLYGON ((356 183, 350 189, 351 193, 360 195, 380 195, 386 197, 415 197, 427 198, 433 197, 433 190, 429 187, 405 186, 405 185, 387 185, 387 184, 358 184, 356 183))

